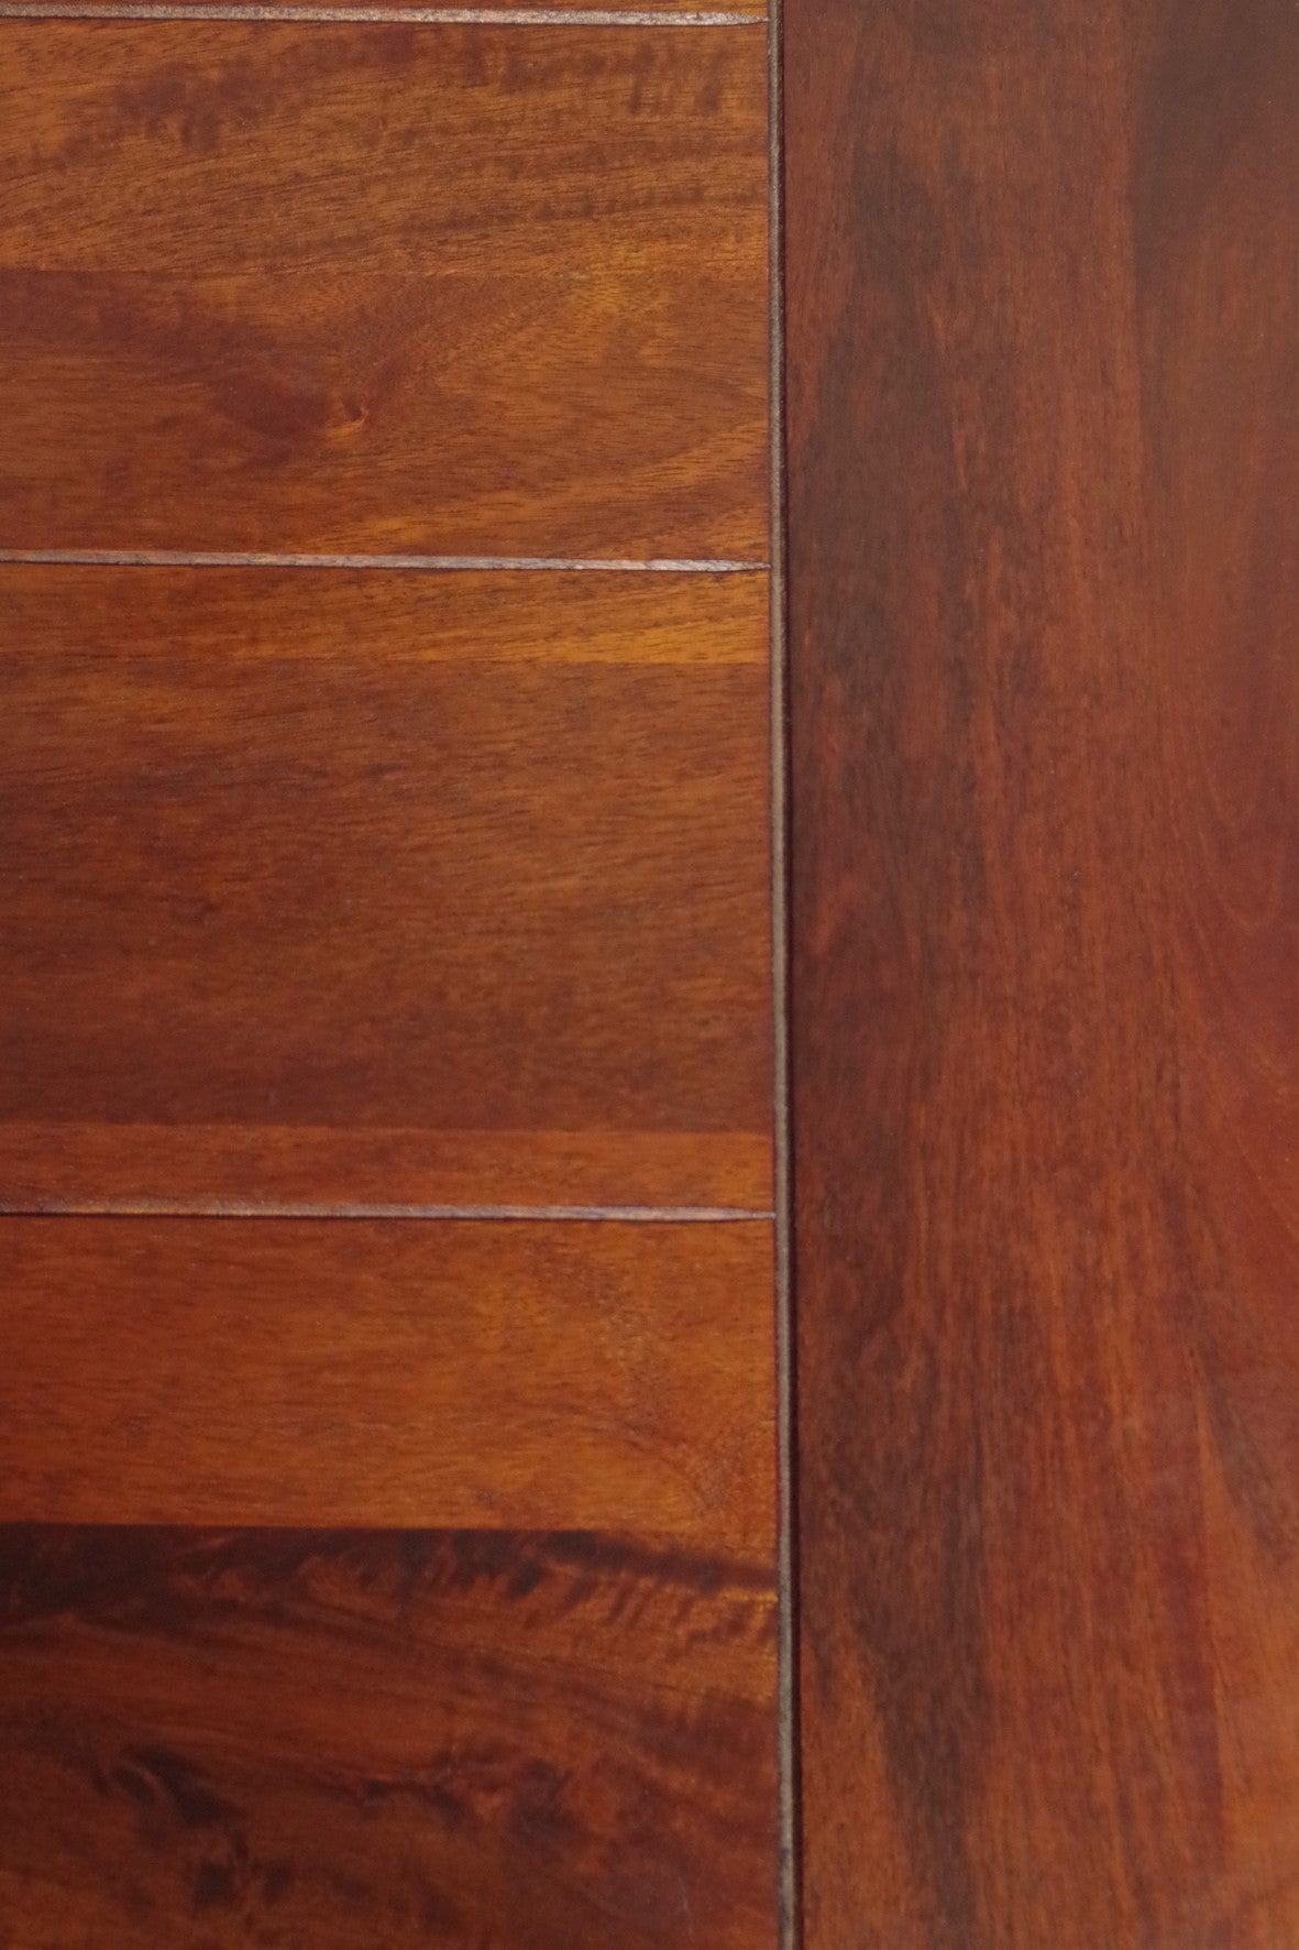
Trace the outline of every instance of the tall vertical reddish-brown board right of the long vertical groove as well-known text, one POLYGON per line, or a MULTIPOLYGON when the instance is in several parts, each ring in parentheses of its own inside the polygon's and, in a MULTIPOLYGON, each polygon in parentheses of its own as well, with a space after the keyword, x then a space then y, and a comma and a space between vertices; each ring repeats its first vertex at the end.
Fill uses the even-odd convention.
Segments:
POLYGON ((786 103, 807 1950, 1281 1950, 1299 16, 786 103))

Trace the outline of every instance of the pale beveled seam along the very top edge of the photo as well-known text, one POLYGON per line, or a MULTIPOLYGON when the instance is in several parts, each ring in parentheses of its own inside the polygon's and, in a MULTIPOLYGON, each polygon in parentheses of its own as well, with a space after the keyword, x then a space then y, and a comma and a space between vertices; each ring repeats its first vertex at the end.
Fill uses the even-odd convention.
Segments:
POLYGON ((0 20, 289 20, 449 27, 763 27, 767 14, 659 14, 603 8, 193 6, 117 0, 0 0, 0 20))

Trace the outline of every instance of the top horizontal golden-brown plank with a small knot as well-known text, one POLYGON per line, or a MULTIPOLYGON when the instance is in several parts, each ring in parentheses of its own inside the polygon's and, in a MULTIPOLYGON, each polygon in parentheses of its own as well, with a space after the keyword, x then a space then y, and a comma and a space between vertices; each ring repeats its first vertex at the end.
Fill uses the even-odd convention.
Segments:
POLYGON ((0 21, 0 546, 767 556, 753 27, 0 21))

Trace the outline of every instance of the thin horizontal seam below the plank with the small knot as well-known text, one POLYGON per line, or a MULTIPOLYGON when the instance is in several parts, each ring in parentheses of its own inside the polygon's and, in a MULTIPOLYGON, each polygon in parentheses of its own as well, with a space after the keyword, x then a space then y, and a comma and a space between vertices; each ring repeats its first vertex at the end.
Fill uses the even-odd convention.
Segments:
MULTIPOLYGON (((0 14, 0 18, 4 18, 0 14)), ((398 573, 453 575, 464 571, 550 569, 614 575, 753 575, 765 562, 726 558, 648 556, 275 556, 205 552, 183 548, 0 548, 0 564, 31 567, 135 567, 135 569, 394 569, 398 573)))

